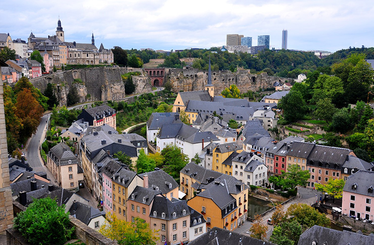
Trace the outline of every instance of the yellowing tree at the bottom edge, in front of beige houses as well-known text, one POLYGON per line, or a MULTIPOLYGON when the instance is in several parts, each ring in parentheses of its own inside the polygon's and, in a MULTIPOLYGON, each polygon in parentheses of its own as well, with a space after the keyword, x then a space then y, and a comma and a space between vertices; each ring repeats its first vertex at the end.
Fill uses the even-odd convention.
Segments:
POLYGON ((100 226, 99 232, 120 245, 155 245, 158 240, 158 230, 151 229, 141 218, 126 222, 115 214, 107 214, 106 221, 100 226))

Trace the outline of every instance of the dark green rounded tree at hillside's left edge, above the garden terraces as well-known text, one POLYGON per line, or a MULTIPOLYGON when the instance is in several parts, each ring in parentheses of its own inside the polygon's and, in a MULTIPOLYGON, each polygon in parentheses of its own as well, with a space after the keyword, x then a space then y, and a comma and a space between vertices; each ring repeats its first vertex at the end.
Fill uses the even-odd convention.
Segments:
POLYGON ((283 110, 283 116, 289 122, 301 119, 307 111, 305 100, 299 91, 290 91, 279 101, 278 108, 283 110))

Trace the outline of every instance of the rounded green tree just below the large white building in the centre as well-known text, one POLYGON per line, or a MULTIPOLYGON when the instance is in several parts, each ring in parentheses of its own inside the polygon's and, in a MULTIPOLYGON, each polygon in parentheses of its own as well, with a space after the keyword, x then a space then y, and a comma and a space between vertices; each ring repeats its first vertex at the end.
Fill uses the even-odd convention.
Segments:
POLYGON ((161 155, 164 157, 165 172, 169 173, 174 179, 178 179, 179 172, 189 162, 188 156, 175 145, 167 145, 161 151, 161 155))

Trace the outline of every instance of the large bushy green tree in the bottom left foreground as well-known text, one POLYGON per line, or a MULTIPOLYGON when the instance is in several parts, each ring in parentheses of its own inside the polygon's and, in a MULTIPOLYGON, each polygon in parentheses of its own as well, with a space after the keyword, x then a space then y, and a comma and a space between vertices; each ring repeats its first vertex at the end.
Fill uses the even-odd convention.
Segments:
POLYGON ((57 206, 56 200, 49 197, 35 199, 14 218, 14 227, 35 245, 64 244, 74 232, 65 205, 57 206))

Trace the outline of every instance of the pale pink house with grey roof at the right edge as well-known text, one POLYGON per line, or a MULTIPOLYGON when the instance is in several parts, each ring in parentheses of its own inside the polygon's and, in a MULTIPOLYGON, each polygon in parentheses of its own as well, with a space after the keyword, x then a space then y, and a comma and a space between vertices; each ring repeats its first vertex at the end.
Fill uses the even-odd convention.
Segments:
POLYGON ((343 189, 342 214, 374 220, 374 172, 359 170, 348 176, 343 189))

